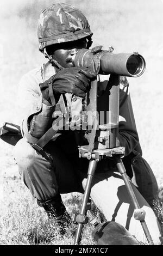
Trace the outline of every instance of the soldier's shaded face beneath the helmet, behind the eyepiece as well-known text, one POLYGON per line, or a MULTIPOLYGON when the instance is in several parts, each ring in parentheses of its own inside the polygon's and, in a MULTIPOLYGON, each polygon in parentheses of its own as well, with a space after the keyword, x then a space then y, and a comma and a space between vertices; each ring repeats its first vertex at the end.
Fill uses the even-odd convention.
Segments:
POLYGON ((61 43, 57 50, 54 51, 52 57, 64 68, 71 68, 73 66, 72 57, 79 49, 85 49, 86 44, 86 39, 61 43))

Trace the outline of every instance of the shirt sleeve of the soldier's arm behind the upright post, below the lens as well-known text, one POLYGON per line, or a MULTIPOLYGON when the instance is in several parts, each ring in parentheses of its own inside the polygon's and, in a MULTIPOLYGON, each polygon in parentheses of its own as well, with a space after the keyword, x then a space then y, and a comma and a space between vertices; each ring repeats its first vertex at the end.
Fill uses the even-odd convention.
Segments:
POLYGON ((139 136, 136 130, 135 118, 129 94, 129 84, 126 77, 120 77, 120 114, 119 141, 125 147, 125 155, 137 150, 141 151, 139 136))

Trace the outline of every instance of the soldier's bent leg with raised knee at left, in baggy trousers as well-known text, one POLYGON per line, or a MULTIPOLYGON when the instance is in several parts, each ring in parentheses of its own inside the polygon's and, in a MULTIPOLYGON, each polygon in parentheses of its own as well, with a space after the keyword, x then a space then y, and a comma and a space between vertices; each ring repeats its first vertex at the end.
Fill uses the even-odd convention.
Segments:
POLYGON ((53 147, 52 161, 48 161, 24 139, 16 144, 14 155, 24 184, 29 188, 32 196, 37 199, 39 206, 45 209, 48 218, 58 224, 60 233, 64 233, 63 227, 65 222, 70 223, 70 216, 66 212, 60 192, 66 193, 75 190, 72 184, 69 184, 68 176, 64 176, 73 176, 71 171, 68 174, 66 159, 63 161, 63 155, 60 159, 59 149, 53 147))

